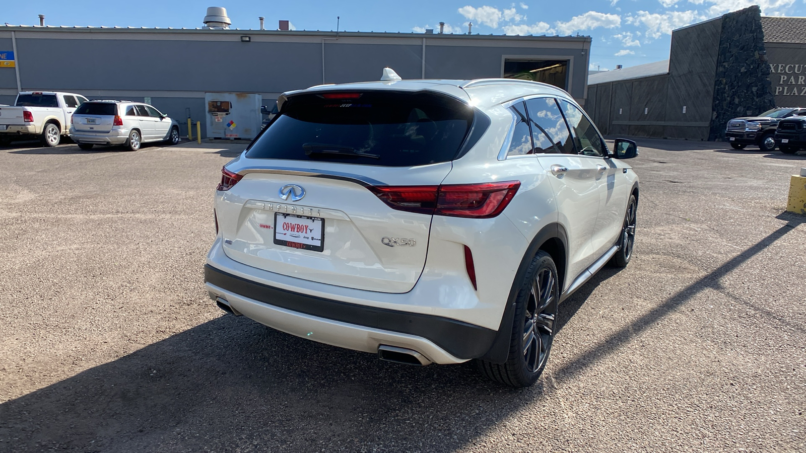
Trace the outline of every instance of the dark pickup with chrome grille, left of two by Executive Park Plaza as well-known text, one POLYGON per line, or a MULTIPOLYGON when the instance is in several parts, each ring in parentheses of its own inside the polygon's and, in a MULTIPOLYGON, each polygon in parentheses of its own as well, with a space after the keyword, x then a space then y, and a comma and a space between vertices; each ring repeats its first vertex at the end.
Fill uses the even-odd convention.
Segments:
POLYGON ((725 138, 733 149, 742 149, 747 145, 756 145, 762 151, 775 149, 775 130, 778 122, 796 114, 806 114, 804 107, 776 107, 754 116, 733 118, 725 129, 725 138))

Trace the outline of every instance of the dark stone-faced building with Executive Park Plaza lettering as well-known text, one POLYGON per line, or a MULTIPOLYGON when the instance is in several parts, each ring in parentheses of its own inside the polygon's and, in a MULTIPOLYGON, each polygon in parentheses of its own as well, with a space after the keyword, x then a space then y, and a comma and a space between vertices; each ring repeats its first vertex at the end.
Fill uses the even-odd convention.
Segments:
POLYGON ((605 134, 724 139, 731 118, 806 106, 806 18, 750 6, 673 31, 669 60, 588 83, 585 108, 605 134))

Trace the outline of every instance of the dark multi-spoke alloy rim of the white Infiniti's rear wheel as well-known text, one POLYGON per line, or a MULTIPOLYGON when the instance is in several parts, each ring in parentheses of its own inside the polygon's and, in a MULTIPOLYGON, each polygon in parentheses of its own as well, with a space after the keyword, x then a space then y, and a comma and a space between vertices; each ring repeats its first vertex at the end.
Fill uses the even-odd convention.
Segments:
POLYGON ((529 372, 537 372, 546 364, 554 339, 557 318, 556 278, 554 272, 542 268, 532 281, 526 320, 523 325, 523 359, 529 372))

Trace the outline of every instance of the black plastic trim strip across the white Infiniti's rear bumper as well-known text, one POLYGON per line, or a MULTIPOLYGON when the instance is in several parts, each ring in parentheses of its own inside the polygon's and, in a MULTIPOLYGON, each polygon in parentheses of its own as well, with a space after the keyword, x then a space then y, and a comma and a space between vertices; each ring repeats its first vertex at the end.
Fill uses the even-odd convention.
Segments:
POLYGON ((430 314, 408 313, 364 305, 332 301, 293 293, 285 289, 249 281, 205 264, 205 281, 231 293, 267 305, 293 310, 319 318, 347 322, 380 330, 429 339, 458 359, 476 359, 492 347, 496 330, 430 314))

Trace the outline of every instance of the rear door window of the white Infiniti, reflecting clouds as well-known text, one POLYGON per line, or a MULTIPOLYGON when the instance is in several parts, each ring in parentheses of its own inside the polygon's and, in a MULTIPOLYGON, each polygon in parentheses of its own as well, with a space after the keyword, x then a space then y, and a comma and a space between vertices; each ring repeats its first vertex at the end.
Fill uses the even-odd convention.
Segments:
POLYGON ((526 101, 532 124, 534 152, 575 154, 574 143, 555 98, 534 98, 526 101))

